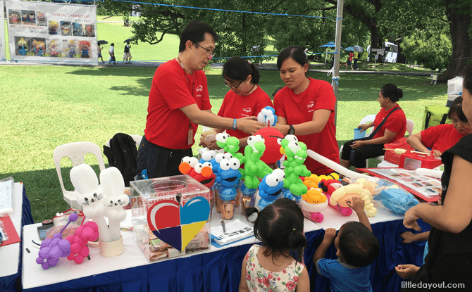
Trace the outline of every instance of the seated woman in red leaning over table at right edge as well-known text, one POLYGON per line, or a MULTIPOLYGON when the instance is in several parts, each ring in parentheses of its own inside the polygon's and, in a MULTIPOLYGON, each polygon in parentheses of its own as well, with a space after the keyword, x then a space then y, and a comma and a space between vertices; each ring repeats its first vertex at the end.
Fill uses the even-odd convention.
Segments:
POLYGON ((451 103, 447 117, 452 120, 452 124, 429 127, 411 135, 406 139, 406 142, 417 151, 430 152, 432 149, 435 157, 440 157, 444 151, 454 146, 462 137, 472 133, 472 127, 462 111, 462 96, 454 99, 451 103))

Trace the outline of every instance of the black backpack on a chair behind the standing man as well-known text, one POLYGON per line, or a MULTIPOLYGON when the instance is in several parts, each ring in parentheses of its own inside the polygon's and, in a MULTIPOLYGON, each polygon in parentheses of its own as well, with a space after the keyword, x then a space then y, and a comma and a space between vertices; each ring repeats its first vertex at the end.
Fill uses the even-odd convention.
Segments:
POLYGON ((110 139, 110 147, 104 145, 104 154, 108 158, 108 165, 120 170, 125 179, 125 186, 135 180, 137 167, 136 142, 128 134, 118 133, 110 139))

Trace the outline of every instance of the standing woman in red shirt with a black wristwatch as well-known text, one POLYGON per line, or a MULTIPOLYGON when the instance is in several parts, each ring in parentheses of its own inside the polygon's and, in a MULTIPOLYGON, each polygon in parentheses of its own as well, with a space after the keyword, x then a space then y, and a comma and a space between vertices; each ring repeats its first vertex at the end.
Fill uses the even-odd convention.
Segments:
MULTIPOLYGON (((336 141, 333 87, 323 80, 306 77, 308 60, 302 46, 289 46, 277 58, 280 78, 286 87, 274 97, 276 128, 282 134, 294 134, 316 153, 340 163, 336 141)), ((333 172, 317 161, 306 158, 304 165, 313 174, 333 172)))

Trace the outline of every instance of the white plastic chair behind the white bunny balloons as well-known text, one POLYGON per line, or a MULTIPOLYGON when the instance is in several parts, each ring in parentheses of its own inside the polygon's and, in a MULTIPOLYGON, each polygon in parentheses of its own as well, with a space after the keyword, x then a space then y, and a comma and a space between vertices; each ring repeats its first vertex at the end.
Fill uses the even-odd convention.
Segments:
POLYGON ((84 163, 85 154, 92 153, 97 157, 99 162, 100 171, 105 169, 105 163, 103 155, 101 154, 101 149, 96 144, 92 142, 73 142, 68 144, 63 144, 54 149, 53 158, 54 165, 56 165, 57 175, 59 177, 59 182, 61 183, 61 189, 63 193, 63 198, 70 208, 81 210, 82 206, 77 203, 76 195, 77 191, 68 191, 64 187, 61 174, 61 159, 65 156, 70 158, 72 161, 72 166, 81 165, 84 163))

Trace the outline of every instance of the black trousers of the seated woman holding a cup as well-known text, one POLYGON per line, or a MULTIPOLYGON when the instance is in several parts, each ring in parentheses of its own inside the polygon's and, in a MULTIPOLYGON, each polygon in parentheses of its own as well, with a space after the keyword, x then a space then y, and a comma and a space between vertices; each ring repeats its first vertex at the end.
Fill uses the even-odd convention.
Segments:
POLYGON ((351 147, 352 142, 359 141, 359 140, 365 141, 367 139, 368 138, 350 140, 344 143, 344 146, 342 146, 341 159, 349 160, 349 163, 351 163, 351 165, 356 168, 365 168, 367 167, 366 159, 374 158, 374 157, 385 154, 385 150, 383 150, 384 148, 383 144, 366 145, 357 149, 353 149, 351 147), (351 157, 352 150, 354 150, 354 157, 351 157))

